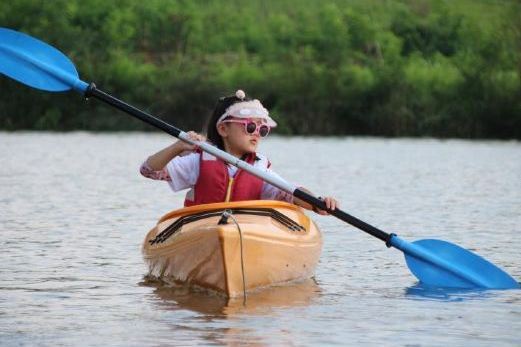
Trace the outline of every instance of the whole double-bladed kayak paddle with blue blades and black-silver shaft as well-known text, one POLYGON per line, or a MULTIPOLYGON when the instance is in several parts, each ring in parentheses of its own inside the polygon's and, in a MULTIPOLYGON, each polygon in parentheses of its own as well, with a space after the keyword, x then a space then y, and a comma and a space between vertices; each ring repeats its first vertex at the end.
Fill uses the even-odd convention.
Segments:
MULTIPOLYGON (((31 36, 0 28, 0 73, 33 88, 51 92, 74 89, 85 97, 95 97, 182 141, 199 146, 203 151, 246 170, 312 206, 326 210, 325 203, 319 198, 208 143, 194 142, 176 127, 99 90, 94 83, 81 81, 74 64, 63 53, 31 36)), ((441 240, 419 240, 409 243, 340 209, 329 213, 384 241, 388 247, 401 250, 409 269, 426 285, 452 288, 519 288, 519 283, 506 272, 455 244, 441 240)))

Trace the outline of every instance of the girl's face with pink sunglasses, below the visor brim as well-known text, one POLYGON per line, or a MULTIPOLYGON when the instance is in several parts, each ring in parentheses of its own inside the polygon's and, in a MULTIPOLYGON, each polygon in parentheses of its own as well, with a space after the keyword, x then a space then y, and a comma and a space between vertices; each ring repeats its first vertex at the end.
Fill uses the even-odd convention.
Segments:
MULTIPOLYGON (((231 119, 228 122, 221 123, 218 130, 224 140, 226 150, 237 155, 255 152, 261 141, 259 133, 266 133, 265 122, 262 118, 250 118, 248 120, 231 119), (257 125, 253 134, 249 134, 246 130, 244 123, 248 122, 254 122, 257 125)), ((249 126, 251 127, 251 124, 249 126)), ((269 128, 267 130, 269 132, 269 128)))

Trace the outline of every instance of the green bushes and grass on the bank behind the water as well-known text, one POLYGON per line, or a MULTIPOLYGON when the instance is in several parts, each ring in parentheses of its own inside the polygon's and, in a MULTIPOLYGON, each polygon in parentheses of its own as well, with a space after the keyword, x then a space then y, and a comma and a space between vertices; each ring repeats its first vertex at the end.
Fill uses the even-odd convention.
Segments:
MULTIPOLYGON (((521 139, 521 3, 17 0, 1 26, 182 129, 244 89, 278 133, 521 139)), ((0 78, 0 128, 149 129, 0 78)))

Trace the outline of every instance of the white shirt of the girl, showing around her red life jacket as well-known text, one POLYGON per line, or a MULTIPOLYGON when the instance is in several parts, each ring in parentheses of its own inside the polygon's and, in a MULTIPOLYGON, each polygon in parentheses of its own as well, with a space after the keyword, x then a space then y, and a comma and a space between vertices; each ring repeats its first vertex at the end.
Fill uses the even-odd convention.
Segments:
MULTIPOLYGON (((205 153, 203 153, 203 155, 205 155, 205 153)), ((259 154, 257 154, 257 156, 260 158, 260 160, 255 161, 255 167, 261 168, 262 170, 269 172, 271 175, 282 179, 275 172, 271 171, 271 169, 267 168, 268 165, 266 165, 266 163, 268 159, 266 157, 259 154)), ((171 178, 171 181, 168 181, 168 184, 174 192, 193 188, 195 186, 195 183, 199 178, 200 158, 201 154, 190 153, 185 156, 177 156, 166 165, 166 169, 171 178)), ((234 177, 238 168, 233 165, 227 165, 227 167, 230 177, 234 177)), ((286 193, 285 191, 280 190, 279 188, 267 182, 264 182, 262 185, 261 199, 281 200, 293 203, 293 195, 286 193)))

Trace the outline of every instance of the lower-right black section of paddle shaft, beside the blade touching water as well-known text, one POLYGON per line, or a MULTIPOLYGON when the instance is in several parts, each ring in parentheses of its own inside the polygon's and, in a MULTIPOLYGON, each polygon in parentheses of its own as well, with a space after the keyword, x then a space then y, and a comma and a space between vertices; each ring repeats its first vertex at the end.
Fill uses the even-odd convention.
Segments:
POLYGON ((353 217, 350 214, 348 214, 338 208, 331 211, 326 207, 326 203, 323 200, 316 198, 313 195, 306 193, 305 191, 303 191, 301 189, 298 189, 298 188, 295 189, 295 191, 293 192, 293 196, 296 198, 299 198, 321 210, 325 210, 329 214, 337 217, 338 219, 341 219, 344 222, 349 223, 352 226, 354 226, 360 230, 363 230, 366 233, 368 233, 376 238, 379 238, 380 240, 385 242, 387 247, 391 246, 389 242, 390 242, 391 238, 394 236, 394 234, 388 234, 385 231, 382 231, 370 224, 367 224, 366 222, 361 221, 360 219, 353 217))

